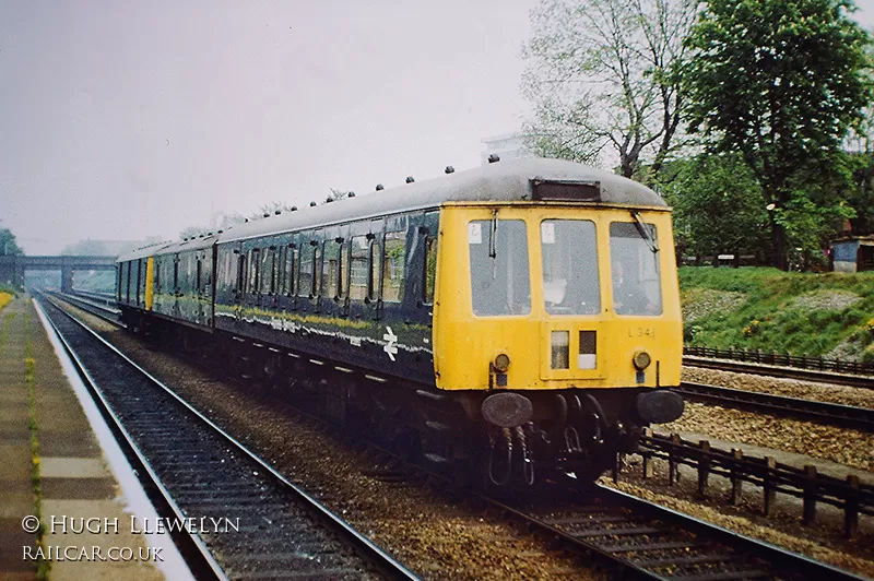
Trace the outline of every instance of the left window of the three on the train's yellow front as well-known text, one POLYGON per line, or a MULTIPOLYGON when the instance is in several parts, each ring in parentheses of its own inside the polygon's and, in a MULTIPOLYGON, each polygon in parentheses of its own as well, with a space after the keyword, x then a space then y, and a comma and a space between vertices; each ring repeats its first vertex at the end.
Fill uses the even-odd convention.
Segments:
POLYGON ((530 313, 525 223, 472 221, 468 224, 468 248, 473 313, 477 317, 530 313))

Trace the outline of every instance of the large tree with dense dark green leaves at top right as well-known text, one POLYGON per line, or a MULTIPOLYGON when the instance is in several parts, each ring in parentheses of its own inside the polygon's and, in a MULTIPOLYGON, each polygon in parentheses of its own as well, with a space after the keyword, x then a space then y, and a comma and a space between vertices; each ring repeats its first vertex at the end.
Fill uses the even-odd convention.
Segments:
POLYGON ((840 146, 872 99, 871 37, 852 10, 850 0, 710 0, 688 37, 689 129, 711 151, 741 154, 783 270, 789 236, 852 213, 836 195, 850 176, 840 146))

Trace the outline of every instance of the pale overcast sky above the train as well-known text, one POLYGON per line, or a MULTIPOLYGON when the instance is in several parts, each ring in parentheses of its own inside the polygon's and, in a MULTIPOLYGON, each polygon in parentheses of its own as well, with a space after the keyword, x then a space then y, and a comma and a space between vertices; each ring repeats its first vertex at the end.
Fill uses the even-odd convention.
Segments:
POLYGON ((57 253, 476 166, 536 3, 0 0, 0 227, 57 253))

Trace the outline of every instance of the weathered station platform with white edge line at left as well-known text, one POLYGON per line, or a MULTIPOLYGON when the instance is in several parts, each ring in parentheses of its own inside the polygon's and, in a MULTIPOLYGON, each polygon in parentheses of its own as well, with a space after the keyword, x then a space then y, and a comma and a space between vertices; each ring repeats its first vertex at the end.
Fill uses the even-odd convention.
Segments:
POLYGON ((49 579, 190 578, 169 538, 131 531, 131 514, 154 509, 78 391, 31 297, 19 296, 0 311, 0 579, 36 579, 40 556, 49 579), (34 515, 42 545, 27 532, 34 515))

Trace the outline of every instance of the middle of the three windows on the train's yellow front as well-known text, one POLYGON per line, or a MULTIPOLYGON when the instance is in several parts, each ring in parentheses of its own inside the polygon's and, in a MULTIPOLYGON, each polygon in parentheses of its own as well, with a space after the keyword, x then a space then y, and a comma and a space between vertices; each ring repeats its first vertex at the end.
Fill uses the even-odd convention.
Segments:
POLYGON ((543 300, 550 315, 595 315, 601 310, 598 244, 588 220, 540 224, 543 300))

